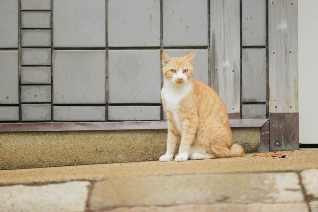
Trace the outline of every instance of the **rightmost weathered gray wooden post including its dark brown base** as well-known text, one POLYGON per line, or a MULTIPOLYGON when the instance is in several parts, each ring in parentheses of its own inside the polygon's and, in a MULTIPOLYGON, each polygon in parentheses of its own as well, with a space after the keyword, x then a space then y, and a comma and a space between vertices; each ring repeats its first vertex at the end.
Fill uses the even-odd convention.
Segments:
POLYGON ((268 1, 270 149, 299 148, 298 1, 268 1))

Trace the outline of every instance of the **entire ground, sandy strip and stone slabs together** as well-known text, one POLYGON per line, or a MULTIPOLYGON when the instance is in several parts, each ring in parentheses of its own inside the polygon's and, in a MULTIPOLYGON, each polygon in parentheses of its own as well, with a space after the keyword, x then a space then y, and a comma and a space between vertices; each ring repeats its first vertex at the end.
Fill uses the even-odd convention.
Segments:
POLYGON ((0 211, 314 211, 318 152, 284 154, 1 170, 0 211))

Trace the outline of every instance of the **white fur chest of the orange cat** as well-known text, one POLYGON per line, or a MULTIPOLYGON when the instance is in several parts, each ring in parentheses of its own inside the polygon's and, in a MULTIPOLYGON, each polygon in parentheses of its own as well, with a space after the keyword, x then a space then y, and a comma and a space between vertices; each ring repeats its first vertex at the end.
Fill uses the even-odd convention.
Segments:
POLYGON ((161 90, 162 97, 166 100, 166 107, 171 111, 174 124, 182 132, 182 121, 180 117, 180 101, 184 99, 192 89, 191 84, 186 84, 183 86, 167 86, 163 87, 161 90))

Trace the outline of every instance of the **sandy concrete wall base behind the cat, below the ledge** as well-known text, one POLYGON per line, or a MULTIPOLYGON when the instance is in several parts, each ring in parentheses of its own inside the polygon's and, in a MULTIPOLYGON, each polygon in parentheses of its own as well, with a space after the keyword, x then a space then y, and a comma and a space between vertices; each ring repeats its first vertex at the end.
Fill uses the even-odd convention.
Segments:
MULTIPOLYGON (((232 128, 235 143, 258 152, 259 127, 232 128)), ((0 169, 158 160, 167 130, 0 133, 0 169)))

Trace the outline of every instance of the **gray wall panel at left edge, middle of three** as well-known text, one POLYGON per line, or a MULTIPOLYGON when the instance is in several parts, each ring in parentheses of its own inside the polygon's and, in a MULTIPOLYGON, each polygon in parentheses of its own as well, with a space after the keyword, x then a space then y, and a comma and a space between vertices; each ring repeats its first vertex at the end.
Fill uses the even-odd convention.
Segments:
POLYGON ((0 51, 0 64, 0 104, 18 104, 18 51, 0 51))

